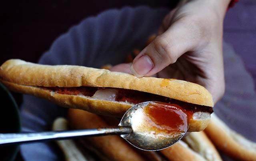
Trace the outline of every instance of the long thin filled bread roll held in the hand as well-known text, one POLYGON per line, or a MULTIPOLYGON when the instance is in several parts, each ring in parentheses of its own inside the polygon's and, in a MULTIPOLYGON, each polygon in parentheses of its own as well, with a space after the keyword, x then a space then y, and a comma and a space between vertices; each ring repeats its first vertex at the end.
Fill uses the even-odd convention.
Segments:
POLYGON ((193 111, 188 131, 202 131, 210 121, 213 106, 211 94, 195 83, 152 77, 137 78, 131 74, 82 66, 49 66, 8 60, 0 67, 0 80, 13 91, 42 97, 63 107, 118 117, 136 103, 112 99, 116 91, 140 91, 140 95, 151 93, 151 97, 136 100, 135 95, 132 100, 158 101, 151 99, 161 97, 161 101, 181 103, 182 108, 188 107, 188 110, 193 111), (91 87, 89 90, 93 88, 96 92, 94 91, 92 96, 82 95, 80 91, 70 94, 69 90, 77 92, 84 90, 83 87, 91 87), (110 95, 106 96, 106 93, 110 95))

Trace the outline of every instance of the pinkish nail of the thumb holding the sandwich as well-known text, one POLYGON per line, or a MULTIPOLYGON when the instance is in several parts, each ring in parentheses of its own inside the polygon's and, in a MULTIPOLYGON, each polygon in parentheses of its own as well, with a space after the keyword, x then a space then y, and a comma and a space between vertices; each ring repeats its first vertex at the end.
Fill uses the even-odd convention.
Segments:
POLYGON ((143 77, 145 74, 147 74, 152 68, 154 67, 154 64, 152 60, 147 56, 143 55, 138 60, 132 63, 130 70, 136 77, 143 77))

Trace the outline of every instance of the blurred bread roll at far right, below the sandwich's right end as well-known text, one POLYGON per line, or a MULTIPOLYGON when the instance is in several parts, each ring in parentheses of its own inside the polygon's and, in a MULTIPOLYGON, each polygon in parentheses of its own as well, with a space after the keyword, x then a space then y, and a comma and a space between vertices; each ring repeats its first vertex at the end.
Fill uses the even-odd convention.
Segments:
POLYGON ((215 114, 205 129, 216 147, 234 159, 256 161, 256 143, 230 129, 215 114))

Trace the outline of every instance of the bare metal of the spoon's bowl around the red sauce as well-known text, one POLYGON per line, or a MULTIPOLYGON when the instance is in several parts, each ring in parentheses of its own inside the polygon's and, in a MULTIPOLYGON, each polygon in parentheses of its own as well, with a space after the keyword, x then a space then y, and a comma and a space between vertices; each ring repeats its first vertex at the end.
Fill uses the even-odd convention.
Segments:
POLYGON ((142 126, 142 128, 138 128, 138 123, 140 124, 143 122, 143 109, 150 103, 154 103, 154 101, 138 103, 131 107, 126 111, 118 126, 132 128, 132 133, 120 136, 134 147, 145 151, 157 151, 177 143, 185 135, 188 127, 186 128, 186 131, 179 133, 178 135, 155 135, 154 131, 149 133, 147 124, 142 126))

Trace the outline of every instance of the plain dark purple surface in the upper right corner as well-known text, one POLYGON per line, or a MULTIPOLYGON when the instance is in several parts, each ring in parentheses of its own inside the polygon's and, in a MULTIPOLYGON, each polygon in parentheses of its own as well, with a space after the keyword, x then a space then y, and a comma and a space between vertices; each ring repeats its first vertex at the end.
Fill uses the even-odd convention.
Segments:
MULTIPOLYGON (((224 20, 224 40, 234 47, 256 85, 256 1, 240 0, 224 20)), ((255 86, 254 86, 254 89, 255 86)))

